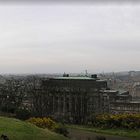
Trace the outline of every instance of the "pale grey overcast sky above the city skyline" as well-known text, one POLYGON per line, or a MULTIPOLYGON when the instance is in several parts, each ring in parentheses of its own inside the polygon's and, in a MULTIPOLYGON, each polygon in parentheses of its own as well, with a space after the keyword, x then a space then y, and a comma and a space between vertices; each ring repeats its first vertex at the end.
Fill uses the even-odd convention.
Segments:
POLYGON ((0 73, 140 70, 140 4, 1 4, 0 73))

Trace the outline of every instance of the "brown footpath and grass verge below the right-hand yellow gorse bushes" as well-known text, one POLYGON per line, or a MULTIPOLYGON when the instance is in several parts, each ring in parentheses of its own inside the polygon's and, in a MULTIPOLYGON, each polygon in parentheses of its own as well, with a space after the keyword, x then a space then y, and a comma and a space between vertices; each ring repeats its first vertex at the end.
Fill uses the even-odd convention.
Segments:
POLYGON ((67 125, 72 139, 94 140, 96 136, 105 136, 107 140, 139 140, 140 130, 101 129, 81 125, 67 125))

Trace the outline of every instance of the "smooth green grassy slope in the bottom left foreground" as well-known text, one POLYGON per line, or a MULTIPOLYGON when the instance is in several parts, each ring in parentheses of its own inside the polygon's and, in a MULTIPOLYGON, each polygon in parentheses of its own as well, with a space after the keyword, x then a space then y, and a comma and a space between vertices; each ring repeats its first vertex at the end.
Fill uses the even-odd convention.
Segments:
POLYGON ((7 135, 10 140, 68 140, 47 129, 13 118, 0 117, 0 136, 7 135))

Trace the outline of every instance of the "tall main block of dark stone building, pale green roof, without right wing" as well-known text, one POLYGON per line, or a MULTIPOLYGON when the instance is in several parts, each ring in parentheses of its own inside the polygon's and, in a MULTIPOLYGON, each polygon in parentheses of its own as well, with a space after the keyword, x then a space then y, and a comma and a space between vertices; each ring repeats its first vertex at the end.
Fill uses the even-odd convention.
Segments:
POLYGON ((49 96, 48 115, 61 116, 75 123, 84 122, 91 114, 103 113, 103 90, 107 82, 92 77, 54 77, 44 80, 43 90, 49 96))

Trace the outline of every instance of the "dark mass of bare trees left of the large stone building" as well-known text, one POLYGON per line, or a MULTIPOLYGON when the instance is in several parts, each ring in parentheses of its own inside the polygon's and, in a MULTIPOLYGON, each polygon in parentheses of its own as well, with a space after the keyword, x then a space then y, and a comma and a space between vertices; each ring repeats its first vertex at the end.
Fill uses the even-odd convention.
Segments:
POLYGON ((36 111, 35 101, 41 94, 38 89, 42 79, 36 75, 3 77, 0 81, 0 112, 15 114, 20 109, 36 111))

